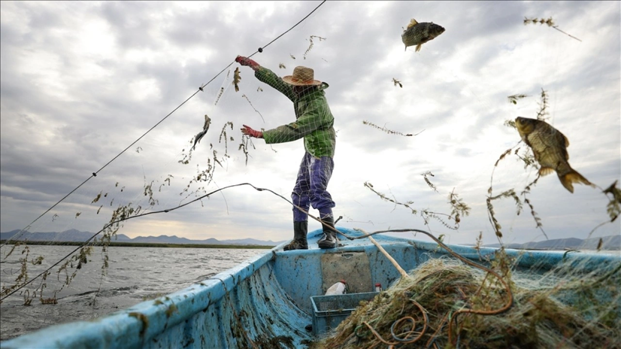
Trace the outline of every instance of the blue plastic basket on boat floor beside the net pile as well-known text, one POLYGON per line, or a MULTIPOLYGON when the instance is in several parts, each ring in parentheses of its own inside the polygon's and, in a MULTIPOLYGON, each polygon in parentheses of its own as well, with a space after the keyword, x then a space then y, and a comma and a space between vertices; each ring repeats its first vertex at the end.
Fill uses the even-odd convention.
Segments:
POLYGON ((338 324, 347 319, 361 301, 370 301, 378 293, 363 292, 311 297, 312 332, 314 335, 322 335, 336 329, 338 324))

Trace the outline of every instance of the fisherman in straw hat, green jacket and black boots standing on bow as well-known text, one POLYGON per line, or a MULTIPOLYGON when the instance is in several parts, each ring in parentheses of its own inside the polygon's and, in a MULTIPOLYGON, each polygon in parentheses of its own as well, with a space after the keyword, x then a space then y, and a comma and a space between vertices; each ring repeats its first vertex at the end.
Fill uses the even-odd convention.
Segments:
POLYGON ((242 134, 263 138, 265 143, 284 143, 304 138, 304 157, 297 172, 296 184, 291 193, 293 206, 293 240, 284 247, 289 250, 307 250, 309 205, 319 211, 324 235, 319 239, 319 248, 335 248, 338 245, 334 229, 332 196, 327 191, 334 168, 333 156, 336 144, 334 118, 325 99, 324 89, 328 84, 317 81, 314 71, 305 66, 296 66, 293 74, 279 78, 273 71, 260 66, 247 57, 237 56, 237 63, 250 66, 255 77, 277 89, 293 102, 296 121, 275 129, 258 131, 243 125, 242 134), (298 209, 299 207, 299 209, 298 209))

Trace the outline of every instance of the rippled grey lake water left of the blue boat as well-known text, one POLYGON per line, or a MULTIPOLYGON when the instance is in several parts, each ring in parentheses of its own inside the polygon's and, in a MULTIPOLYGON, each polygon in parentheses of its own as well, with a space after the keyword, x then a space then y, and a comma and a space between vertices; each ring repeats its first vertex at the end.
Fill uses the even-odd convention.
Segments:
MULTIPOLYGON (((2 247, 0 259, 0 283, 2 287, 14 283, 20 272, 19 258, 22 250, 16 248, 4 259, 11 245, 2 247)), ((44 256, 41 265, 29 263, 29 278, 61 260, 73 251, 75 246, 29 246, 29 260, 44 256)), ((57 270, 47 278, 43 298, 52 297, 55 290, 58 304, 41 304, 39 297, 32 305, 24 306, 24 296, 16 292, 0 304, 0 340, 17 337, 24 333, 50 325, 76 320, 90 320, 126 307, 134 306, 148 299, 155 299, 179 289, 199 283, 204 279, 225 271, 253 256, 268 250, 237 248, 153 248, 153 247, 110 247, 109 268, 102 277, 101 247, 95 247, 89 262, 84 265, 71 282, 61 289, 65 281, 64 272, 58 281, 57 270), (95 294, 101 283, 101 291, 95 294)), ((73 270, 70 271, 70 273, 73 270)), ((36 280, 27 288, 39 286, 36 280)))

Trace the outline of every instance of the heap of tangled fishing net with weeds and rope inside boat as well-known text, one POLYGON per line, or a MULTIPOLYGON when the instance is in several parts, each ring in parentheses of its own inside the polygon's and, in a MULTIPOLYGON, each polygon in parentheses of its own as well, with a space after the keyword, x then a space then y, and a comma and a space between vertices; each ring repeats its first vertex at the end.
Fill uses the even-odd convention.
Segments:
POLYGON ((434 258, 361 302, 313 348, 621 348, 617 263, 606 273, 576 273, 571 263, 545 274, 505 269, 507 290, 478 268, 434 258))

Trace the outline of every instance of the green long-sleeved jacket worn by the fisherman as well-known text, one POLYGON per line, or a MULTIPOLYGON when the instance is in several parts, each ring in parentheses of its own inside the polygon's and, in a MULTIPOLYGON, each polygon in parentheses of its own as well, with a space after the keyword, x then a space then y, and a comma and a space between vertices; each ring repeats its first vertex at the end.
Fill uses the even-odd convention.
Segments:
POLYGON ((263 131, 265 143, 291 142, 304 137, 306 152, 316 158, 321 156, 332 158, 337 136, 333 127, 334 117, 332 117, 324 93, 324 89, 328 88, 329 85, 322 83, 317 91, 297 97, 293 93, 293 86, 285 83, 283 79, 268 68, 259 68, 255 71, 255 76, 259 81, 270 85, 287 96, 293 102, 296 112, 295 122, 263 131))

